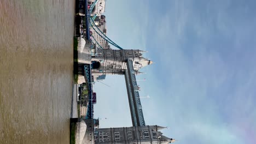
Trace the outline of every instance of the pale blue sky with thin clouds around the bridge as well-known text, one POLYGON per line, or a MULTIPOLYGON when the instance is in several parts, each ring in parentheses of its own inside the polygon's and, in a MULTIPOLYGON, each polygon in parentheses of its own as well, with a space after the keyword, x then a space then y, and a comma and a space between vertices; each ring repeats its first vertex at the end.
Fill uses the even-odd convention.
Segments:
MULTIPOLYGON (((147 50, 143 68, 147 125, 170 127, 177 143, 255 143, 256 2, 106 3, 107 35, 124 49, 147 50)), ((96 83, 101 128, 130 127, 124 76, 96 83)))

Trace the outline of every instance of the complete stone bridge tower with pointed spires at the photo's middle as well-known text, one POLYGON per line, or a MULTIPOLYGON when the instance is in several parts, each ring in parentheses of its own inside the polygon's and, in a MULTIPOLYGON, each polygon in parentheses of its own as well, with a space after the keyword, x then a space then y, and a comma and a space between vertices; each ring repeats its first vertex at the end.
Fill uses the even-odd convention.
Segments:
POLYGON ((92 69, 92 75, 124 75, 127 69, 127 59, 133 62, 133 68, 136 74, 140 74, 139 69, 153 62, 142 57, 141 50, 112 50, 98 49, 95 56, 92 57, 92 63, 98 63, 98 67, 92 69))

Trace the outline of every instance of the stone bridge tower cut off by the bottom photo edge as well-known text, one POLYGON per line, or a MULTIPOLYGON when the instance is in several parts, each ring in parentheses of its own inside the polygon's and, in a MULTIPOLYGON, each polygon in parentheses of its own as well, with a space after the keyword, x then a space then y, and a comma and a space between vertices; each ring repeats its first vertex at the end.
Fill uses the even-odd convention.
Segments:
POLYGON ((158 125, 147 125, 142 127, 126 128, 104 128, 96 129, 94 134, 95 144, 97 143, 127 143, 127 144, 148 144, 148 143, 171 143, 170 139, 158 130, 165 127, 158 125))

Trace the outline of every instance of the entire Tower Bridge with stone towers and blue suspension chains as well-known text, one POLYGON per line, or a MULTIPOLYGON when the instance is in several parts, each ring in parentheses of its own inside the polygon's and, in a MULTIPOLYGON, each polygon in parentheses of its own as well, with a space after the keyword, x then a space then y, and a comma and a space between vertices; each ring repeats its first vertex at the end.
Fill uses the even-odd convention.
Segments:
MULTIPOLYGON (((82 1, 82 0, 79 0, 82 1)), ((94 119, 94 107, 92 104, 92 75, 108 75, 108 74, 119 74, 124 75, 127 89, 127 96, 131 112, 132 127, 128 128, 104 128, 95 129, 95 131, 87 131, 84 140, 90 143, 171 143, 174 139, 170 139, 158 130, 165 128, 158 125, 146 125, 144 121, 141 100, 139 98, 139 87, 136 81, 136 75, 139 74, 139 69, 152 64, 147 58, 142 57, 141 50, 125 50, 119 45, 115 44, 114 41, 109 39, 94 23, 95 15, 91 15, 93 7, 96 5, 98 0, 84 0, 86 7, 86 17, 90 27, 87 27, 86 32, 90 31, 90 28, 100 35, 109 44, 117 47, 119 50, 103 49, 97 41, 95 41, 93 35, 86 35, 86 39, 89 39, 90 43, 94 46, 89 46, 88 52, 91 53, 90 60, 79 61, 82 65, 80 69, 83 69, 84 78, 88 86, 89 93, 89 104, 86 119, 94 119), (87 1, 90 1, 91 7, 87 7, 87 1), (92 16, 92 17, 91 17, 92 16), (90 18, 89 18, 90 17, 90 18), (92 50, 94 49, 94 50, 92 50), (88 136, 89 135, 89 136, 88 136), (90 138, 88 138, 90 137, 90 138), (89 140, 89 141, 87 141, 89 140)), ((104 1, 104 0, 99 0, 104 1)), ((89 33, 87 33, 89 34, 89 33)), ((83 53, 83 52, 81 52, 83 53)), ((79 56, 79 53, 78 53, 79 56)), ((91 127, 91 126, 90 126, 91 127)))

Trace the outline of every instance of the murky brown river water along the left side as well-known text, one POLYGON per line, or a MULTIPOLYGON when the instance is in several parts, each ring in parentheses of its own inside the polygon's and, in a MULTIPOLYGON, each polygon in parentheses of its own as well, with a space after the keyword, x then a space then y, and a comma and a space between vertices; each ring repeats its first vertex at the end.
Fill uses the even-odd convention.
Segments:
POLYGON ((69 143, 74 0, 0 0, 0 143, 69 143))

